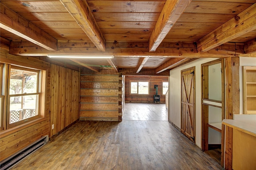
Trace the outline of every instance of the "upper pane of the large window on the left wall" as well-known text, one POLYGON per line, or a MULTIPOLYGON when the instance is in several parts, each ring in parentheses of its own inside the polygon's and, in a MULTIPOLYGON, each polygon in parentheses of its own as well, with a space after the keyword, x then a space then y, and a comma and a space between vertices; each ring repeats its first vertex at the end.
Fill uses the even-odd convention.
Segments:
POLYGON ((25 94, 37 92, 37 72, 11 68, 10 73, 9 94, 25 94))

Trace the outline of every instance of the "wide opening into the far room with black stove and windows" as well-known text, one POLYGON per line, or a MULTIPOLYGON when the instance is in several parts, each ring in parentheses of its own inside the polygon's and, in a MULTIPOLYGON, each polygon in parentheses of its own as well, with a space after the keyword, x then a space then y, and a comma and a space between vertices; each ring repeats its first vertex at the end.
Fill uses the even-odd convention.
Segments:
POLYGON ((123 120, 168 121, 168 76, 126 75, 123 80, 123 120), (157 102, 154 98, 156 95, 159 96, 157 102))

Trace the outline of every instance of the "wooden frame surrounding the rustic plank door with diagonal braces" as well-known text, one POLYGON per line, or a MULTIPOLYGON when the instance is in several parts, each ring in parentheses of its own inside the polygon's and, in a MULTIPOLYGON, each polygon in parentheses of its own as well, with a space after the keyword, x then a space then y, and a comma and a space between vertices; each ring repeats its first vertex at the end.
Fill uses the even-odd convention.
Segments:
MULTIPOLYGON (((181 96, 181 98, 180 98, 180 125, 181 125, 181 127, 180 127, 180 131, 181 131, 181 133, 182 133, 182 72, 185 72, 185 71, 188 71, 188 70, 194 70, 194 73, 193 73, 193 125, 194 125, 194 127, 192 127, 192 131, 193 131, 193 140, 191 140, 190 138, 190 140, 191 141, 193 141, 194 143, 196 143, 196 66, 193 66, 193 67, 190 67, 190 68, 186 68, 186 69, 184 69, 184 70, 181 70, 180 71, 180 77, 181 77, 181 91, 180 91, 180 96, 181 96)), ((191 74, 191 73, 190 73, 191 74)), ((182 133, 182 134, 184 134, 184 133, 182 133)), ((186 135, 187 136, 187 135, 186 135)))

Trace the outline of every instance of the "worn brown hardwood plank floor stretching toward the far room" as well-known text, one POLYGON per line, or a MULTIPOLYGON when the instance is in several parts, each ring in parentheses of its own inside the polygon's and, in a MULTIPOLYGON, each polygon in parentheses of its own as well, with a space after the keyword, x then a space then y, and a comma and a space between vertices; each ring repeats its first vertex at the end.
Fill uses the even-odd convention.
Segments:
MULTIPOLYGON (((140 114, 136 116, 151 119, 143 115, 148 112, 146 107, 153 110, 150 106, 138 106, 140 114)), ((128 107, 137 106, 126 105, 126 119, 130 117, 128 107)), ((135 115, 131 117, 134 119, 135 115)), ((78 121, 12 169, 220 170, 222 167, 167 120, 123 120, 78 121)))

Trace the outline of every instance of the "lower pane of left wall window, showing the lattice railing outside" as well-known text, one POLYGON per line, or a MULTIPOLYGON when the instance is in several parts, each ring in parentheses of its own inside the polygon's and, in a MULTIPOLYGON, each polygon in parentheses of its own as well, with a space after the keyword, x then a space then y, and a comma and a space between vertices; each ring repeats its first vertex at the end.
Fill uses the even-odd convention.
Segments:
POLYGON ((10 103, 10 123, 38 115, 38 95, 11 97, 10 101, 14 98, 20 102, 10 103))

